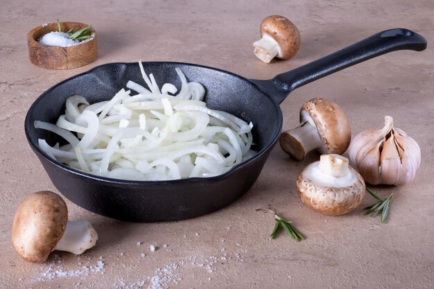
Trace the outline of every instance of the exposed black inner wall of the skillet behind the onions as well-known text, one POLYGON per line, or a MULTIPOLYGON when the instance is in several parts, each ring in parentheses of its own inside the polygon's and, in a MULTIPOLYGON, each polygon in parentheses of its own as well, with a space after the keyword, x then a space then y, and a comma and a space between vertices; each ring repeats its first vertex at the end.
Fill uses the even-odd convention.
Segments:
MULTIPOLYGON (((235 116, 252 121, 252 149, 258 155, 265 152, 277 140, 281 130, 281 111, 270 97, 251 82, 227 71, 177 62, 143 62, 146 73, 153 73, 157 85, 172 83, 180 89, 181 82, 175 67, 184 72, 187 80, 202 83, 206 89, 205 102, 214 110, 223 110, 235 116)), ((120 89, 125 88, 128 80, 146 87, 137 63, 104 64, 86 73, 64 80, 47 90, 32 105, 26 118, 28 140, 36 147, 37 139, 46 139, 53 146, 64 141, 51 132, 36 130, 33 121, 55 123, 64 114, 65 102, 69 96, 84 96, 89 103, 108 100, 120 89)), ((135 91, 132 91, 135 94, 135 91)))

